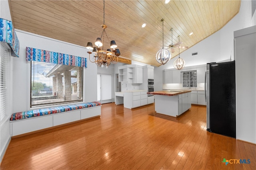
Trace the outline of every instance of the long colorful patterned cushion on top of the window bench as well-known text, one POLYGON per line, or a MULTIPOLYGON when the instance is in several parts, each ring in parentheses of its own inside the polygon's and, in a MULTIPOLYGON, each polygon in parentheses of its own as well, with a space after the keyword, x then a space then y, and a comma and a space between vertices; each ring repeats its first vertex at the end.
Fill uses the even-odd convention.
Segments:
POLYGON ((15 120, 20 120, 20 119, 28 119, 31 117, 50 115, 50 114, 54 114, 54 113, 61 113, 61 112, 65 112, 65 111, 84 109, 87 107, 94 107, 94 106, 100 106, 100 105, 101 105, 100 102, 90 102, 90 103, 84 103, 84 104, 76 104, 76 105, 51 107, 51 108, 46 108, 46 109, 36 109, 36 110, 30 110, 30 111, 17 112, 17 113, 13 113, 11 115, 10 121, 15 121, 15 120))

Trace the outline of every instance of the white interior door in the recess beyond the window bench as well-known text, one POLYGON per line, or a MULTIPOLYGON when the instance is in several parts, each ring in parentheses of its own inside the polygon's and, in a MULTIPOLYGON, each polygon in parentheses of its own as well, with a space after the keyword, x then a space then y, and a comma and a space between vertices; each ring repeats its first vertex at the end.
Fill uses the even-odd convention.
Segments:
POLYGON ((98 101, 102 104, 112 102, 112 74, 98 74, 98 101), (100 99, 100 100, 99 100, 100 99))

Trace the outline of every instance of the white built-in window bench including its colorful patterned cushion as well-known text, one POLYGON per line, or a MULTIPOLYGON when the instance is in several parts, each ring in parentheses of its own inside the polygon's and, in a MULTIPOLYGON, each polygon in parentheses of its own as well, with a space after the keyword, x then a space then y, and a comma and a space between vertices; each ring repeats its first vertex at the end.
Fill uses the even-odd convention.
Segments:
POLYGON ((10 118, 11 136, 33 133, 100 115, 100 102, 17 112, 13 113, 10 118))

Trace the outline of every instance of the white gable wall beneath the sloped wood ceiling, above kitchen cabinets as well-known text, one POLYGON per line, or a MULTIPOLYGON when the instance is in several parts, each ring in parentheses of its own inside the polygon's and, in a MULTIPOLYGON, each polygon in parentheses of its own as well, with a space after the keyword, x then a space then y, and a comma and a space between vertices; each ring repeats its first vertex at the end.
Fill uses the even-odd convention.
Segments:
MULTIPOLYGON (((256 14, 254 13, 252 17, 251 3, 251 0, 242 0, 239 13, 222 29, 180 53, 180 58, 185 60, 186 66, 225 61, 230 59, 230 55, 234 60, 234 31, 256 25, 256 14), (198 52, 198 55, 192 56, 194 52, 198 52)), ((155 91, 162 90, 162 70, 174 68, 173 62, 177 57, 174 57, 165 65, 155 67, 155 91)))

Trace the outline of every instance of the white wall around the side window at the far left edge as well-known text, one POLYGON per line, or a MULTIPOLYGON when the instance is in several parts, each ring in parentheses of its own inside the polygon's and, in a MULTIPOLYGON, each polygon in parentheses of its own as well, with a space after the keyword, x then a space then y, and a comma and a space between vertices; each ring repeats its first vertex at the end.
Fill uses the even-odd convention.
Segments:
MULTIPOLYGON (((3 18, 5 20, 11 21, 11 14, 9 11, 9 4, 8 0, 0 0, 0 18, 3 18)), ((10 56, 10 68, 7 68, 7 74, 9 74, 9 77, 7 77, 7 108, 6 108, 6 114, 11 115, 12 114, 12 62, 13 58, 10 56), (9 73, 8 73, 9 72, 9 73)), ((11 135, 10 135, 10 121, 9 119, 4 119, 1 122, 0 125, 0 162, 2 162, 2 158, 4 156, 4 153, 10 143, 11 135)))

